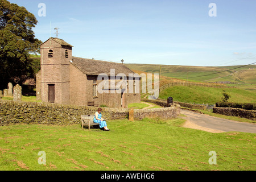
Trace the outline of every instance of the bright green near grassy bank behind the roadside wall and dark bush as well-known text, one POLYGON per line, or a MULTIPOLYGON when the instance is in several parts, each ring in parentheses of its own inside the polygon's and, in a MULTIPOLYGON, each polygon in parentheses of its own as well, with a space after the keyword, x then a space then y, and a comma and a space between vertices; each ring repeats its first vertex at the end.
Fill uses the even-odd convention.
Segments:
MULTIPOLYGON (((229 102, 256 102, 254 92, 243 89, 225 89, 231 96, 229 102)), ((208 88, 204 86, 172 86, 160 92, 159 98, 173 97, 174 101, 196 104, 214 104, 221 101, 221 88, 208 88)))

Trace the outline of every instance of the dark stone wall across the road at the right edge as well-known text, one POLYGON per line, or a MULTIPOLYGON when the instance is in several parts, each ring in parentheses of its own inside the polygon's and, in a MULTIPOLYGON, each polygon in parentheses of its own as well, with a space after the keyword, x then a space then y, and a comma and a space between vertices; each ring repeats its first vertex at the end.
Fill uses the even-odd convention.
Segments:
POLYGON ((245 110, 232 107, 213 107, 213 113, 236 116, 256 121, 256 110, 245 110))

